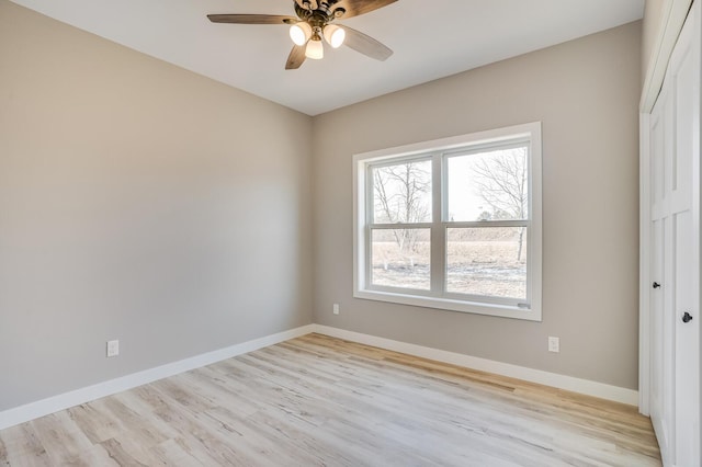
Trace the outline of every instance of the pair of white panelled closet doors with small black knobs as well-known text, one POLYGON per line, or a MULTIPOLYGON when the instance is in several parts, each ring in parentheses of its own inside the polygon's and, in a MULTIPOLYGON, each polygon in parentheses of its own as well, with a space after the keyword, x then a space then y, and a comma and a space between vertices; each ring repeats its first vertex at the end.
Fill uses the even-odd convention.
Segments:
POLYGON ((650 118, 650 417, 665 465, 700 466, 700 2, 650 118))

